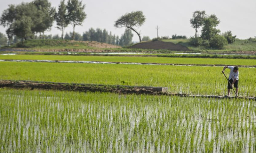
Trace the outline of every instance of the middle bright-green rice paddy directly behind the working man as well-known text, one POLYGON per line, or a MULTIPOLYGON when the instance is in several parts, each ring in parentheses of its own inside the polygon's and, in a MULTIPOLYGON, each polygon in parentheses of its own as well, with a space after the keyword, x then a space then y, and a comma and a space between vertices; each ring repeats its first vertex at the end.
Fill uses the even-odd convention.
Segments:
MULTIPOLYGON (((0 62, 0 79, 168 87, 170 92, 225 95, 222 67, 0 62)), ((227 75, 229 69, 225 72, 227 75)), ((239 95, 256 96, 256 69, 239 69, 239 95)))

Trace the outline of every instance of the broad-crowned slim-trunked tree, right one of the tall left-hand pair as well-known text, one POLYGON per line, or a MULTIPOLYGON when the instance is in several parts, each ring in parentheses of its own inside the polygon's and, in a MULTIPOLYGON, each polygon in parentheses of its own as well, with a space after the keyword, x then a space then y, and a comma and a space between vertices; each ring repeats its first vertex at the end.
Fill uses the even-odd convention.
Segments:
POLYGON ((78 0, 68 0, 67 10, 68 10, 68 20, 73 26, 73 40, 75 39, 75 26, 82 25, 86 14, 84 12, 85 4, 78 0))

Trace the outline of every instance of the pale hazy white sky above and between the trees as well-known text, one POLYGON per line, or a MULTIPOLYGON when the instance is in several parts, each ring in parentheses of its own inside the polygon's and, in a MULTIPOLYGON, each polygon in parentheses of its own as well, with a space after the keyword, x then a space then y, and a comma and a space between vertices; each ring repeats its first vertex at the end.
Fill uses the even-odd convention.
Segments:
MULTIPOLYGON (((8 8, 8 4, 20 4, 32 0, 1 0, 0 13, 8 8)), ((58 9, 60 0, 49 0, 53 7, 58 9)), ((66 0, 67 3, 68 0, 66 0)), ((125 13, 142 11, 146 21, 139 28, 141 36, 156 37, 156 25, 160 27, 158 36, 172 34, 193 36, 195 30, 190 26, 189 19, 196 10, 206 11, 206 14, 216 14, 220 19, 218 28, 221 32, 231 30, 240 39, 256 36, 256 0, 82 0, 87 18, 83 26, 76 26, 75 32, 83 34, 89 28, 106 29, 112 34, 121 35, 124 28, 115 28, 114 22, 125 13)), ((61 31, 52 26, 45 34, 61 34, 61 31)), ((0 26, 0 32, 5 33, 0 26)), ((65 32, 70 32, 69 25, 65 32)), ((133 33, 133 41, 139 37, 133 33)))

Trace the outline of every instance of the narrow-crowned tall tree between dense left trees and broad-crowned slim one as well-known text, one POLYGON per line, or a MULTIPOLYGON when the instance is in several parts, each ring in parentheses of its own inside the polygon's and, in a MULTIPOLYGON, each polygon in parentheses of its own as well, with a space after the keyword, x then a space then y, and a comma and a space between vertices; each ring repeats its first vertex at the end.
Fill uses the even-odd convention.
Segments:
POLYGON ((64 37, 64 29, 68 26, 68 13, 67 13, 67 8, 65 5, 65 0, 60 1, 60 5, 58 8, 58 12, 55 13, 54 19, 57 24, 57 28, 61 30, 61 39, 64 37))

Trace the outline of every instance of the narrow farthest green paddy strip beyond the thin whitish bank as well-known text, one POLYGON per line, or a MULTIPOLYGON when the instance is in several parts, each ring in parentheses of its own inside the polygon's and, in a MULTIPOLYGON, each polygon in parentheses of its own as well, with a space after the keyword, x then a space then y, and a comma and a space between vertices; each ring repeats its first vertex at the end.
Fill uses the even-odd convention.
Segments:
POLYGON ((101 61, 171 64, 224 64, 256 65, 254 59, 181 58, 181 57, 139 57, 139 56, 76 56, 76 55, 0 55, 2 60, 59 60, 59 61, 101 61))

